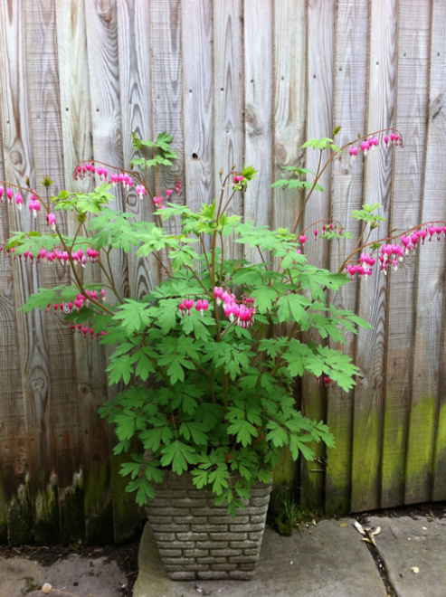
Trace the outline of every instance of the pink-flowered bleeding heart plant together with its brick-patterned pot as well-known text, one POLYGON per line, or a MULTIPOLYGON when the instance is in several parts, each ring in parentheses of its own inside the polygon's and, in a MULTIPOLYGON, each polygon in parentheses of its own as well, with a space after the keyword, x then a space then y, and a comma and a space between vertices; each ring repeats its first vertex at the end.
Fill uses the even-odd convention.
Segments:
MULTIPOLYGON (((288 447, 294 460, 299 454, 311 459, 312 441, 334 446, 323 422, 297 410, 294 381, 307 372, 352 388, 356 366, 323 340, 342 343, 345 331, 367 324, 327 302, 326 290, 336 291, 349 279, 308 263, 305 231, 296 236, 299 217, 292 232, 271 231, 228 213, 234 195, 255 176, 252 167, 221 173, 220 195, 193 212, 169 202, 173 189, 152 191, 147 184, 149 168, 169 167, 176 159, 172 137, 133 141, 139 156, 131 170, 90 162, 77 167, 75 178, 99 178, 91 193, 62 191, 47 199, 18 187, 13 196, 10 185, 10 201, 20 208, 21 192, 29 193, 29 209, 36 215, 42 208, 51 229, 16 232, 5 251, 57 261, 71 280, 70 286, 41 289, 25 310, 62 308, 74 332, 111 347, 109 383, 125 388, 100 415, 118 435, 115 453, 138 442, 121 472, 138 504, 149 505, 168 572, 173 578, 249 578, 280 450, 288 447), (110 207, 113 185, 153 204, 153 221, 138 222, 110 207), (58 226, 69 212, 77 218, 71 236, 58 226), (166 230, 169 218, 180 222, 179 233, 166 230), (243 259, 232 257, 234 243, 242 244, 243 259), (142 299, 120 296, 109 261, 113 251, 137 251, 162 271, 162 280, 142 299), (102 284, 83 283, 79 272, 87 262, 100 268, 102 284), (308 330, 320 342, 305 342, 308 330)), ((308 145, 331 150, 328 161, 341 151, 332 139, 308 145)), ((293 180, 277 184, 307 187, 309 198, 322 172, 308 183, 312 173, 295 168, 293 180)), ((51 184, 43 180, 45 187, 51 184)), ((356 213, 365 227, 378 221, 376 207, 356 213)), ((332 224, 322 235, 342 239, 346 232, 332 224)), ((362 240, 342 266, 351 276, 368 274, 375 262, 379 244, 367 244, 366 234, 362 240), (361 255, 352 265, 367 246, 366 259, 361 255)))

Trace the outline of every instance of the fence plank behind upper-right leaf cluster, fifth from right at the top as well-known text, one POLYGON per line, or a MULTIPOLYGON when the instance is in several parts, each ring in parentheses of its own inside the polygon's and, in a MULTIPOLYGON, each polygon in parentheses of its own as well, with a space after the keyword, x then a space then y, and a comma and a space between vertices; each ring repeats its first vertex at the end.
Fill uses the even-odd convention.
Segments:
MULTIPOLYGON (((335 50, 335 5, 330 2, 320 3, 310 0, 308 3, 308 65, 307 65, 307 138, 330 137, 333 131, 333 68, 335 50)), ((328 154, 327 154, 328 156, 328 154)), ((323 156, 325 163, 326 156, 323 156)), ((318 170, 318 152, 308 149, 306 167, 316 173, 318 170)), ((312 179, 312 176, 310 177, 312 179)), ((304 229, 318 220, 327 219, 330 214, 330 169, 320 178, 319 184, 325 193, 313 194, 305 209, 304 229)), ((318 224, 321 228, 321 224, 318 224)), ((314 228, 308 229, 308 241, 305 253, 309 263, 327 268, 327 242, 314 241, 314 228)), ((313 339, 309 337, 307 339, 313 339)), ((302 411, 310 418, 326 418, 326 396, 323 384, 304 375, 302 379, 302 411)), ((320 444, 314 445, 318 459, 325 461, 325 450, 320 444)), ((302 462, 301 467, 301 503, 303 507, 322 508, 324 505, 324 475, 311 472, 314 462, 302 462)), ((327 471, 329 474, 329 471, 327 471)))

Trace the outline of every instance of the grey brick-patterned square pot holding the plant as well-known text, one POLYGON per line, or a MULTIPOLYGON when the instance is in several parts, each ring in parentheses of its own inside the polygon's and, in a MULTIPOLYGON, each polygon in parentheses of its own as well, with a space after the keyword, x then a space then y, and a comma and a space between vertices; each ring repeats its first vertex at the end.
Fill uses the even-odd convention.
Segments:
POLYGON ((197 489, 192 476, 166 473, 148 500, 147 516, 159 554, 173 580, 249 580, 261 550, 271 484, 257 483, 234 518, 214 504, 214 494, 197 489))

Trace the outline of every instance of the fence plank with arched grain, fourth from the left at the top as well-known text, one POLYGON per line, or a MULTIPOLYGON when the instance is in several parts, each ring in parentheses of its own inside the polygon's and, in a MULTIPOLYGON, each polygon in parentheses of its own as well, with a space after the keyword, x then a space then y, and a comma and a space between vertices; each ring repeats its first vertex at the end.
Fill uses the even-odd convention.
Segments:
MULTIPOLYGON (((93 156, 110 166, 123 166, 122 131, 119 99, 119 52, 116 2, 86 2, 87 48, 90 74, 90 108, 93 156)), ((115 193, 116 207, 125 208, 120 189, 115 193)), ((128 296, 128 262, 125 255, 115 252, 111 258, 114 286, 120 297, 128 296)), ((110 299, 110 298, 108 298, 110 299)), ((108 388, 112 397, 116 388, 108 388)), ((89 397, 90 417, 98 417, 97 406, 89 397)), ((87 409, 86 412, 89 412, 87 409)), ((86 499, 86 535, 90 543, 113 540, 112 481, 109 462, 109 428, 98 423, 101 441, 95 445, 88 475, 89 497, 86 499)), ((87 490, 86 490, 87 498, 87 490)))

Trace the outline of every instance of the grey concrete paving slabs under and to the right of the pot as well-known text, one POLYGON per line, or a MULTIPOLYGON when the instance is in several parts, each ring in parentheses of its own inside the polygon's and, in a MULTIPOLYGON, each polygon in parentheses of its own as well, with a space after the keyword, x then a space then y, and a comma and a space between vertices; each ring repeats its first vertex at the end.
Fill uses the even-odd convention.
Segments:
MULTIPOLYGON (((134 597, 385 597, 389 594, 354 518, 323 520, 291 537, 267 527, 251 581, 171 581, 150 528, 139 549, 134 597)), ((378 553, 398 597, 446 596, 446 518, 369 519, 378 553)))

